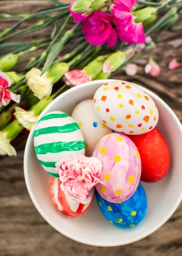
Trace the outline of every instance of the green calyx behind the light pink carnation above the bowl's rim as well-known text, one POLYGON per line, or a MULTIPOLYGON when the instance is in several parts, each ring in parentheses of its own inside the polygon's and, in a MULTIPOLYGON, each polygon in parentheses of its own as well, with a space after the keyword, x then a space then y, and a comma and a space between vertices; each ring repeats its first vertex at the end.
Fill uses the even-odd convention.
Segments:
POLYGON ((86 72, 86 75, 92 75, 92 80, 94 80, 99 75, 102 69, 103 62, 98 61, 97 59, 94 59, 83 68, 83 70, 86 72))

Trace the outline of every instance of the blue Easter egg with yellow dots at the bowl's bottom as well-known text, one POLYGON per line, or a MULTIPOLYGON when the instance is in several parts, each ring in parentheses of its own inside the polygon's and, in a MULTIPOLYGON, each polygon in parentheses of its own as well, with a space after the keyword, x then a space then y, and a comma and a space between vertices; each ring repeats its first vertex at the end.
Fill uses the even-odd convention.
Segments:
POLYGON ((132 197, 125 202, 108 202, 97 191, 96 201, 103 216, 113 225, 123 229, 136 227, 147 213, 147 197, 140 183, 132 197))

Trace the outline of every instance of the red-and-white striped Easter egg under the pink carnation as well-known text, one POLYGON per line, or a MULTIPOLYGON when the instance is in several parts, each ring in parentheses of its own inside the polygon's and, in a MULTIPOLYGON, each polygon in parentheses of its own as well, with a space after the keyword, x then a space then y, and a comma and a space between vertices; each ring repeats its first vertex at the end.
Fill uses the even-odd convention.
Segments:
POLYGON ((90 208, 95 195, 95 189, 92 188, 90 193, 90 202, 87 204, 81 204, 79 202, 70 202, 64 192, 60 188, 61 181, 56 177, 50 176, 48 190, 50 200, 53 203, 55 209, 65 217, 76 218, 82 216, 90 208))

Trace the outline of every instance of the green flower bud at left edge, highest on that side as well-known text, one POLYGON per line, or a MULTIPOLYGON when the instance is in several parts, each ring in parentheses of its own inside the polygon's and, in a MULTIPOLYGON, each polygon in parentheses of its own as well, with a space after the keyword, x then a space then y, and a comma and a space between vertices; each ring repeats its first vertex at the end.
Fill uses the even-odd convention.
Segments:
POLYGON ((12 67, 16 65, 18 61, 18 55, 9 53, 6 56, 0 58, 0 70, 3 72, 11 70, 12 67))

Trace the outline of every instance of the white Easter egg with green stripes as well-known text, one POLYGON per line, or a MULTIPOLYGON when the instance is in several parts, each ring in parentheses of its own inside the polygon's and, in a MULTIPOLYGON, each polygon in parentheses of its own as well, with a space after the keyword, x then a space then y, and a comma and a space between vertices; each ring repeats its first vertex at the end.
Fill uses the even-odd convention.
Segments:
POLYGON ((35 154, 42 167, 59 177, 55 163, 70 155, 85 155, 85 141, 79 125, 61 111, 48 112, 39 119, 34 131, 35 154))

